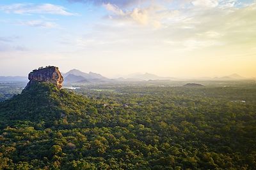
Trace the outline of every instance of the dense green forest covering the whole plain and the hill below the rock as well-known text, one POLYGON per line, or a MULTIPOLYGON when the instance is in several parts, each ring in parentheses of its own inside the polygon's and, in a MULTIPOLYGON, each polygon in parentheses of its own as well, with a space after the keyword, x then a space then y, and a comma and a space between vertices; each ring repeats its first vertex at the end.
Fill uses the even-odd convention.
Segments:
POLYGON ((0 169, 256 169, 255 81, 204 85, 8 89, 0 169))

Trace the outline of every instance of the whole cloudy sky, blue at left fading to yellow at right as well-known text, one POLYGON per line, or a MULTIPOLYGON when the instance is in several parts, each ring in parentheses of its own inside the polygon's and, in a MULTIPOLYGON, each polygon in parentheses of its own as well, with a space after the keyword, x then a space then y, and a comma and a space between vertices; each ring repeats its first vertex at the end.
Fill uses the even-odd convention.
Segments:
POLYGON ((256 77, 256 1, 0 1, 0 76, 41 66, 256 77))

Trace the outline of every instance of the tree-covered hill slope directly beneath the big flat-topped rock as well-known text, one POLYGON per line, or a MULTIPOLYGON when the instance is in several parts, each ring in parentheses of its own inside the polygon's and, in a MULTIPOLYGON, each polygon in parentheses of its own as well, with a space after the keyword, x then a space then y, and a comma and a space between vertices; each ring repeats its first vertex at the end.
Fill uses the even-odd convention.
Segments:
POLYGON ((88 100, 68 90, 59 90, 51 83, 35 83, 29 90, 0 104, 1 125, 8 121, 27 120, 35 123, 81 115, 88 100))

